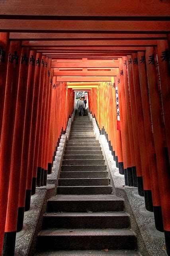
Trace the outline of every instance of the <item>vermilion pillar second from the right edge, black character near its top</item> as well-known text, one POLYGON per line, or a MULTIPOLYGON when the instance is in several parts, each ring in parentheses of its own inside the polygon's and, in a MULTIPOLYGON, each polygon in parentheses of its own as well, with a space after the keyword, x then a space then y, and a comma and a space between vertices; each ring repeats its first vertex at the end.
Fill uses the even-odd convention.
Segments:
POLYGON ((153 47, 146 47, 146 64, 166 250, 167 253, 170 254, 170 172, 166 154, 167 145, 162 136, 163 124, 161 119, 160 96, 158 93, 156 70, 154 66, 153 47))

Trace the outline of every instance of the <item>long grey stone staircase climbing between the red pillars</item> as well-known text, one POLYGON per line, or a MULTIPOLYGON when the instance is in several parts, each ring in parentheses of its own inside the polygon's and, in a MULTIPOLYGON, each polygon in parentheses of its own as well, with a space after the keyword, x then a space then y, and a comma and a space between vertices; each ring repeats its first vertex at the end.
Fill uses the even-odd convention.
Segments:
POLYGON ((88 116, 75 116, 57 196, 48 200, 36 255, 138 255, 124 202, 112 194, 88 116))

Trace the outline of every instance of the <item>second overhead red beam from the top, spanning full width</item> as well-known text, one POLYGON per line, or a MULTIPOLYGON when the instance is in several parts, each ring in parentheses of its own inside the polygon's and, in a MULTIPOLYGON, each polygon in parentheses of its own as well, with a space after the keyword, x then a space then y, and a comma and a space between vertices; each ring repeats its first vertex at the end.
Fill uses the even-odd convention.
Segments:
POLYGON ((168 33, 170 21, 129 20, 0 20, 0 32, 168 33))

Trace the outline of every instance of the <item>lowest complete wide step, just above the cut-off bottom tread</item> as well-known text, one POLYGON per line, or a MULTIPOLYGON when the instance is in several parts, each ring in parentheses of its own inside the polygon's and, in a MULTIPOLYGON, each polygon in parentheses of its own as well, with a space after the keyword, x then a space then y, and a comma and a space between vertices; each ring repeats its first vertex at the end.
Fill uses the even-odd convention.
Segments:
POLYGON ((134 250, 136 235, 129 229, 47 229, 37 238, 41 250, 134 250))

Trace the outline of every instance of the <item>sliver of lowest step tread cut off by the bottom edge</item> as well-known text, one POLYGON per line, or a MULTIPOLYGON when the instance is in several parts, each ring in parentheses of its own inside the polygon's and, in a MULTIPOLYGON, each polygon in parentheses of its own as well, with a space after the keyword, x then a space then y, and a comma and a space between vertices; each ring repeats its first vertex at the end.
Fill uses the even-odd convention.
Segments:
POLYGON ((132 250, 108 250, 108 251, 97 251, 97 250, 84 250, 84 251, 45 251, 37 252, 35 256, 139 256, 136 251, 132 250))

